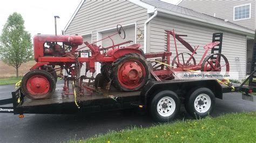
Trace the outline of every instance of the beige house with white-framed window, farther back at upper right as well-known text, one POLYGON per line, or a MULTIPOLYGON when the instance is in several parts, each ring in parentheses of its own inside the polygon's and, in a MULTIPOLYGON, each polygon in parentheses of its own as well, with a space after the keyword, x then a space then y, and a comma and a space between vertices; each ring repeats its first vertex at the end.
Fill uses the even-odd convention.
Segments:
MULTIPOLYGON (((256 28, 255 0, 181 0, 178 5, 194 11, 205 13, 206 15, 226 19, 228 22, 250 28, 253 31, 256 28)), ((253 37, 247 37, 247 74, 250 74, 253 44, 253 37)))

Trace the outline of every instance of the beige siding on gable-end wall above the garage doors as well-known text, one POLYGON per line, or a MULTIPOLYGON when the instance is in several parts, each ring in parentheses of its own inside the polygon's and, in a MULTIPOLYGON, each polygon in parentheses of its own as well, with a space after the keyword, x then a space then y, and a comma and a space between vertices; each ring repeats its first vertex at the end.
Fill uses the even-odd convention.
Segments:
MULTIPOLYGON (((97 31, 116 27, 117 24, 136 23, 137 28, 144 32, 146 19, 146 9, 127 1, 85 1, 65 33, 92 33, 92 41, 96 41, 97 31)), ((143 46, 143 39, 137 39, 137 43, 143 46)))

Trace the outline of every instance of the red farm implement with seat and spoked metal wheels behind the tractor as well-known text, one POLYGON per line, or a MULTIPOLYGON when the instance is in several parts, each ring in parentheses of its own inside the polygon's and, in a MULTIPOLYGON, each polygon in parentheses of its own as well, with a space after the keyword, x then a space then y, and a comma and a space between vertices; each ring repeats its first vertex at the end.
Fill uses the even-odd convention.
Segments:
POLYGON ((167 51, 170 51, 170 35, 173 37, 174 47, 176 56, 174 56, 172 63, 170 65, 170 57, 167 57, 165 61, 159 62, 156 61, 153 65, 154 73, 159 77, 158 80, 170 80, 173 78, 173 73, 176 71, 230 71, 230 65, 226 56, 221 54, 221 42, 222 42, 222 33, 214 33, 213 34, 213 42, 206 44, 204 46, 205 52, 201 57, 199 63, 197 63, 194 58, 194 54, 197 54, 197 49, 199 46, 195 46, 194 48, 188 44, 181 37, 186 37, 187 35, 179 35, 172 31, 165 30, 166 32, 166 48, 167 51), (191 53, 188 52, 178 52, 177 48, 177 40, 186 47, 191 53), (215 46, 219 46, 215 48, 215 46), (207 55, 208 51, 211 50, 211 54, 207 55), (218 51, 216 53, 216 51, 218 51), (165 64, 164 64, 165 63, 165 64), (170 68, 171 67, 171 68, 170 68))

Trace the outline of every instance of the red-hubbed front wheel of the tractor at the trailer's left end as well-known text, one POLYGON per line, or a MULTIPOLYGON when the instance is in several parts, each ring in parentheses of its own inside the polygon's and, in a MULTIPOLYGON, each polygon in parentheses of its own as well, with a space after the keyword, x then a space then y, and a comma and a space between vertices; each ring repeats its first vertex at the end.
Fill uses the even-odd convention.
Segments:
POLYGON ((30 99, 49 98, 55 91, 55 78, 45 70, 35 69, 22 78, 21 89, 30 99))

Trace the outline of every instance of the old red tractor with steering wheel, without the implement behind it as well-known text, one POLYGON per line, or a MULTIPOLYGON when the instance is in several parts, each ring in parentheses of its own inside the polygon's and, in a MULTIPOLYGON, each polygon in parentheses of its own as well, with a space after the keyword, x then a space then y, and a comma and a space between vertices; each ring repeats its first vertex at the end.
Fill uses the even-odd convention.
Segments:
MULTIPOLYGON (((103 38, 111 39, 113 35, 119 34, 120 38, 125 38, 125 31, 121 25, 117 25, 117 33, 103 38)), ((99 41, 102 41, 99 40, 99 41)), ((89 57, 83 58, 79 55, 78 48, 83 44, 83 38, 79 35, 35 35, 34 52, 37 62, 29 73, 22 79, 21 88, 27 97, 31 99, 49 98, 56 88, 56 71, 63 69, 69 76, 64 77, 64 94, 69 95, 69 81, 73 81, 74 90, 77 96, 83 95, 84 89, 97 91, 98 89, 109 90, 113 85, 117 90, 135 91, 141 89, 149 80, 151 69, 148 66, 147 58, 170 56, 170 52, 144 54, 139 49, 140 44, 133 44, 125 48, 120 45, 132 41, 114 44, 110 47, 89 44, 84 42, 89 57), (101 73, 96 77, 87 77, 87 71, 95 73, 95 62, 100 62, 101 73), (86 66, 85 73, 81 72, 82 65, 86 66), (56 68, 56 66, 59 66, 56 68), (87 82, 83 82, 87 80, 87 82), (94 81, 94 82, 92 82, 94 81), (94 87, 91 84, 94 83, 94 87)))

